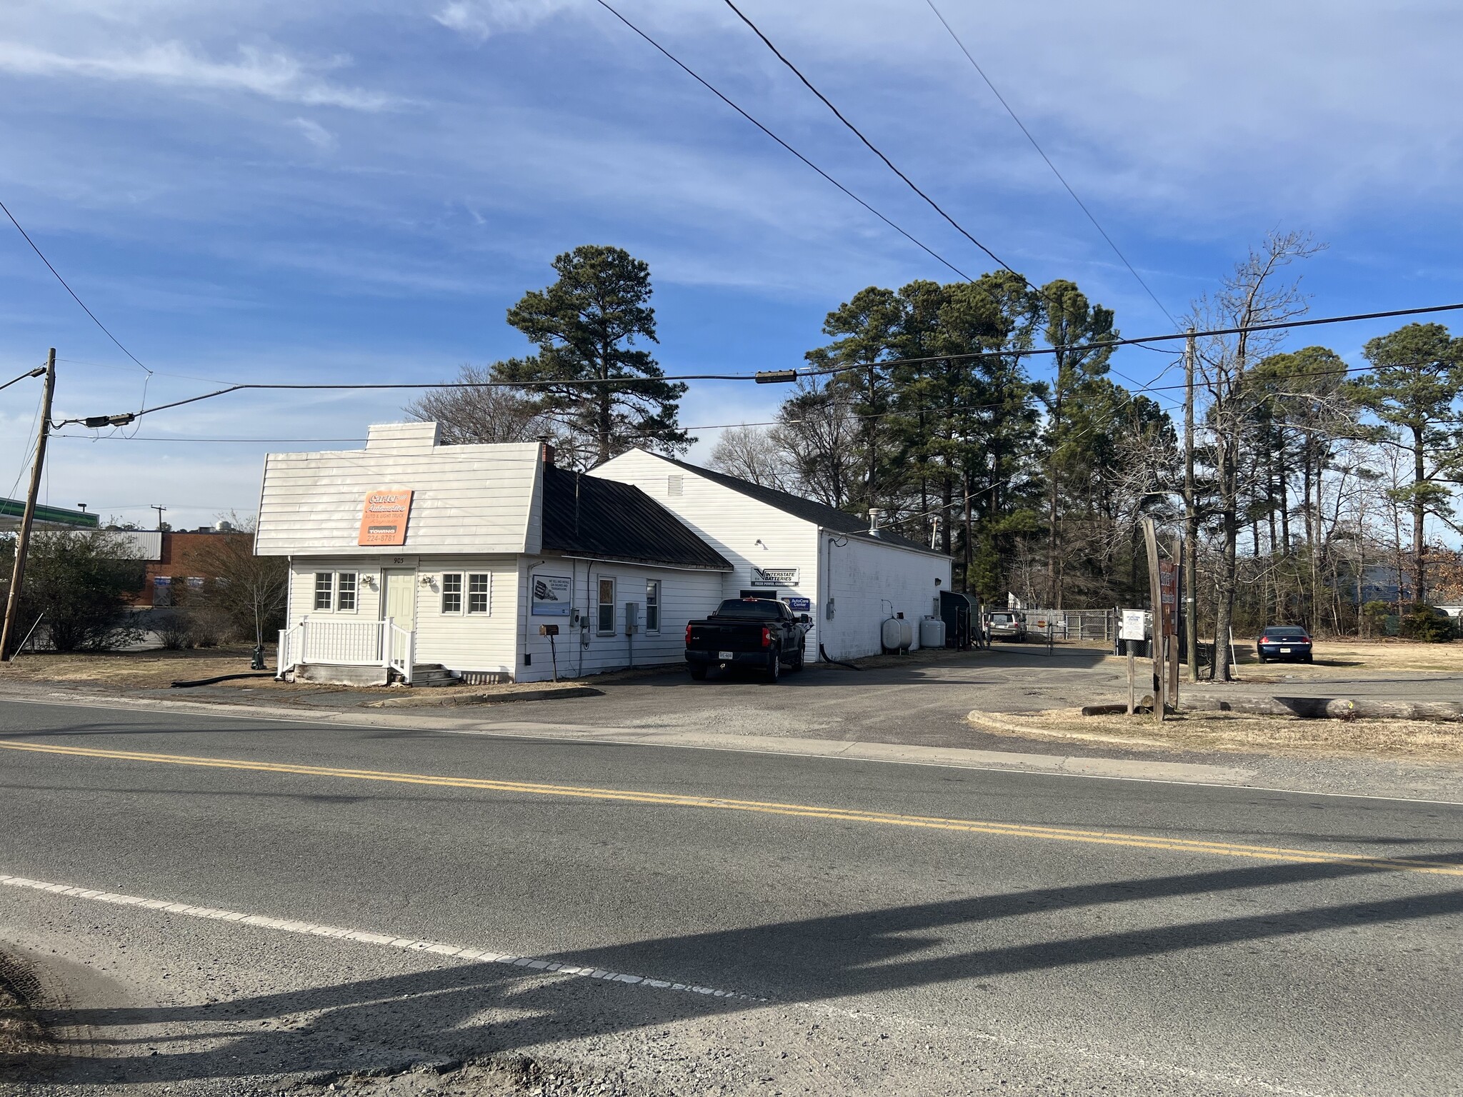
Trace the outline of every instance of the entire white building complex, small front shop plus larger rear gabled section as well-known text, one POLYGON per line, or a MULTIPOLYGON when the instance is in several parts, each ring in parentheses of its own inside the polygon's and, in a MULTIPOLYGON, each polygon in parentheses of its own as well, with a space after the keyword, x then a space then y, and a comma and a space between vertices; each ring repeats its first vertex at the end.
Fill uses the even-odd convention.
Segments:
POLYGON ((644 451, 590 474, 540 443, 443 446, 435 423, 366 449, 271 453, 255 551, 290 559, 279 674, 537 682, 683 661, 723 598, 787 601, 808 658, 919 645, 949 557, 821 503, 644 451))

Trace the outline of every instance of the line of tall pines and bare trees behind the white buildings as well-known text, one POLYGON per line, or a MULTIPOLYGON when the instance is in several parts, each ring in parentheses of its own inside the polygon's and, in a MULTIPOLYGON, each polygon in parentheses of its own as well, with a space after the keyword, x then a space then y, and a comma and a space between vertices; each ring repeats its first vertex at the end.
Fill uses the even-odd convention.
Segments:
MULTIPOLYGON (((1201 625, 1426 630, 1429 601, 1463 600, 1453 494, 1463 339, 1409 323, 1365 344, 1365 367, 1287 350, 1318 249, 1274 233, 1192 303, 1194 477, 1185 490, 1185 361, 1157 380, 1113 370, 1112 309, 1069 279, 996 271, 970 282, 870 285, 828 312, 774 423, 723 430, 710 464, 882 522, 955 560, 986 603, 1144 604, 1144 516, 1195 528, 1201 625), (1124 383, 1127 382, 1127 383, 1124 383), (1191 516, 1186 515, 1191 512, 1191 516)), ((576 467, 632 446, 683 453, 686 386, 655 342, 648 266, 617 247, 554 259, 557 279, 508 310, 535 353, 433 389, 407 410, 445 442, 546 437, 576 467)), ((1162 355, 1162 357, 1160 357, 1162 355)), ((1223 676, 1227 645, 1216 644, 1223 676)))

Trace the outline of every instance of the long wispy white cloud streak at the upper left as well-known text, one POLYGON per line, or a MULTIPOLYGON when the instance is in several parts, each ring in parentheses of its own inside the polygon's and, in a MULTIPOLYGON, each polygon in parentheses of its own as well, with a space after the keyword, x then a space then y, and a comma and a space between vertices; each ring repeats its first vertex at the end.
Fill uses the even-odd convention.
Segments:
POLYGON ((338 69, 347 59, 307 63, 282 50, 238 48, 233 61, 217 61, 183 42, 142 45, 129 53, 66 56, 19 42, 0 42, 0 72, 22 76, 88 76, 99 80, 136 80, 174 88, 205 88, 247 92, 307 107, 344 107, 380 111, 399 101, 383 92, 350 88, 326 80, 325 69, 338 69))

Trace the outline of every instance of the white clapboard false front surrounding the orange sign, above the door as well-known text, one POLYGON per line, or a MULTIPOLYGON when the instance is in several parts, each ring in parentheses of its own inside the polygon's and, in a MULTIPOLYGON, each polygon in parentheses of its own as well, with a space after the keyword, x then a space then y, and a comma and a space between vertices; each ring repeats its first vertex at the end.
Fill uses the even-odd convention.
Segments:
MULTIPOLYGON (((433 424, 407 424, 430 427, 433 424)), ((271 453, 255 551, 260 556, 380 556, 423 553, 521 553, 537 538, 541 493, 537 443, 426 446, 377 440, 357 451, 271 453), (383 550, 357 544, 366 494, 411 490, 405 544, 383 550)))

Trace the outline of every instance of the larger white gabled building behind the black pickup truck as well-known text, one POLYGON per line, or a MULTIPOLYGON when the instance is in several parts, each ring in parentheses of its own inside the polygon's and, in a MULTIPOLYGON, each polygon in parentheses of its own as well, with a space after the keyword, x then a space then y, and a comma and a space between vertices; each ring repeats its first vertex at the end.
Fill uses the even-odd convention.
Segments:
POLYGON ((948 556, 832 506, 642 449, 590 475, 641 489, 730 560, 724 597, 775 591, 812 616, 809 660, 875 655, 884 622, 900 614, 919 646, 920 619, 939 616, 949 591, 948 556))

